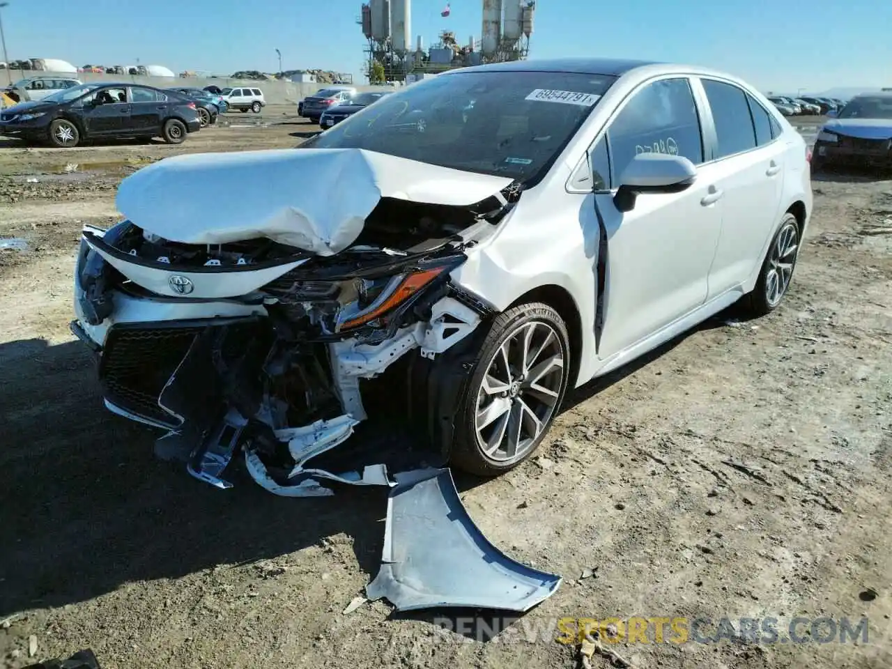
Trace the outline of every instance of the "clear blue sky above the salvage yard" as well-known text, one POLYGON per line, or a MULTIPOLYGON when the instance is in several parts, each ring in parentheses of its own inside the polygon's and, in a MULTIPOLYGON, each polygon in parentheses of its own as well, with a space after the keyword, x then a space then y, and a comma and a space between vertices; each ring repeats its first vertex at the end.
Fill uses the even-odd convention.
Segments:
MULTIPOLYGON (((508 0, 510 1, 510 0, 508 0)), ((359 0, 9 0, 9 57, 175 71, 321 68, 359 75, 359 0)), ((412 2, 425 47, 481 31, 481 0, 412 2)), ((888 0, 539 0, 531 58, 600 55, 692 62, 764 90, 892 86, 888 0)), ((413 37, 414 42, 415 37, 413 37)))

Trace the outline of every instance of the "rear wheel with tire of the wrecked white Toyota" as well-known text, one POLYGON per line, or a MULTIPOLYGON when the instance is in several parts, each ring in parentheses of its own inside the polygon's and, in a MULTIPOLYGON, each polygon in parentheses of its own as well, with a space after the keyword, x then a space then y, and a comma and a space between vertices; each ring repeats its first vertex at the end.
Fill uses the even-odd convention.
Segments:
POLYGON ((757 318, 777 309, 793 280, 793 270, 796 269, 799 257, 800 237, 799 221, 788 211, 780 221, 777 234, 765 254, 756 287, 741 303, 747 316, 757 318))

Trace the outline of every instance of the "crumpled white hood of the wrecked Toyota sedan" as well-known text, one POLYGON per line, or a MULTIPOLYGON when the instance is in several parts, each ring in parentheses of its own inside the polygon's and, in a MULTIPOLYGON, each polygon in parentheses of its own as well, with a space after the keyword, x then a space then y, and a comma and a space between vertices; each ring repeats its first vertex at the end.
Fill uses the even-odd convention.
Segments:
POLYGON ((333 255, 382 197, 467 206, 511 182, 364 149, 199 153, 125 178, 116 203, 137 226, 181 244, 268 237, 333 255))

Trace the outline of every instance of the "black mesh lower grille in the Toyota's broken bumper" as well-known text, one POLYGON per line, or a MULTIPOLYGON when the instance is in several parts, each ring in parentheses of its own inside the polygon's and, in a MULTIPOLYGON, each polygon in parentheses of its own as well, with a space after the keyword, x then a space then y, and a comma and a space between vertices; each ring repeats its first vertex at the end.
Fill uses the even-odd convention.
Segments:
POLYGON ((112 327, 100 376, 105 399, 137 416, 173 424, 158 396, 202 327, 112 327))

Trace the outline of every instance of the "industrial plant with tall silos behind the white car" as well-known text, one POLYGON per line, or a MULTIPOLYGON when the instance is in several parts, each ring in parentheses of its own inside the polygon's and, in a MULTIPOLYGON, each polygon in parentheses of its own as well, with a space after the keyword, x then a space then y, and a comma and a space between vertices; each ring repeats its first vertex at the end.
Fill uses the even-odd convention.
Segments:
POLYGON ((454 32, 444 30, 426 52, 420 35, 413 44, 411 0, 370 0, 362 5, 359 23, 368 39, 368 64, 381 63, 384 79, 397 82, 408 75, 523 60, 530 48, 534 12, 535 0, 483 0, 480 39, 472 35, 460 45, 454 32))

